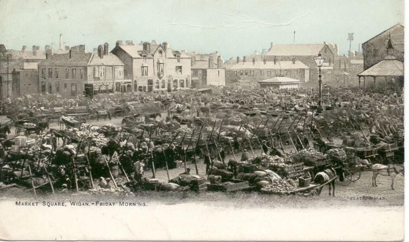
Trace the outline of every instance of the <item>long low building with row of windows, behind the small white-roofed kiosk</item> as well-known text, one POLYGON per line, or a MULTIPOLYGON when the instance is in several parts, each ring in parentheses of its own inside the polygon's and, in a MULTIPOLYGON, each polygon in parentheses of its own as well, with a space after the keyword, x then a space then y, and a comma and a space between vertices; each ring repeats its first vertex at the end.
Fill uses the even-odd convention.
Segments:
POLYGON ((309 71, 307 65, 294 59, 292 61, 239 62, 226 69, 226 85, 251 83, 253 87, 259 87, 260 81, 274 77, 288 77, 299 80, 301 83, 307 83, 310 78, 309 71))

